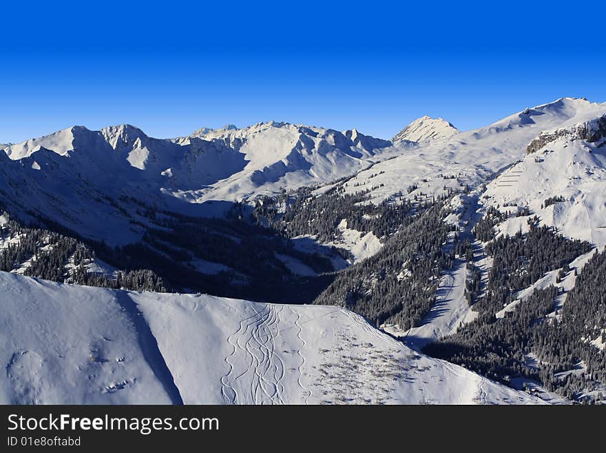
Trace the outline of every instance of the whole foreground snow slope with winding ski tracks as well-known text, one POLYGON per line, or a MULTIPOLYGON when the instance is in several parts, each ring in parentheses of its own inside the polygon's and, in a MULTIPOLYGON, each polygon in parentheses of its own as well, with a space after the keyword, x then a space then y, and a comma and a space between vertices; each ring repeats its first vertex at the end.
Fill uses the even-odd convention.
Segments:
POLYGON ((1 403, 540 403, 346 310, 0 272, 1 403))

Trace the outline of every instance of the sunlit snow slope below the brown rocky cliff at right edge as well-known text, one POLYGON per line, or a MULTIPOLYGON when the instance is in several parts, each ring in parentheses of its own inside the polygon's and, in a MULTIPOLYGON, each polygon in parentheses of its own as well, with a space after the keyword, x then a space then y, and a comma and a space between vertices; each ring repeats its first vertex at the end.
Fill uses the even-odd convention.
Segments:
MULTIPOLYGON (((564 131, 577 130, 572 125, 564 131)), ((577 239, 606 245, 606 139, 594 142, 563 133, 543 143, 492 181, 483 203, 527 207, 545 225, 577 239), (545 200, 563 201, 545 206, 545 200)), ((527 228, 527 217, 508 219, 502 233, 527 228)))

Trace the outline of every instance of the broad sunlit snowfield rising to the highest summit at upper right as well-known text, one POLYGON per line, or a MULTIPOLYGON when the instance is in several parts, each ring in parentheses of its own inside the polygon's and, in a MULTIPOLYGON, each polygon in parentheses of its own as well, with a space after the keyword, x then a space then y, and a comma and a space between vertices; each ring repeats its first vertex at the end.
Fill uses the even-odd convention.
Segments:
POLYGON ((431 197, 466 185, 476 187, 523 159, 527 146, 541 132, 574 126, 605 113, 606 103, 578 98, 527 108, 450 139, 419 143, 395 159, 359 172, 348 181, 346 190, 370 189, 371 199, 379 203, 399 191, 407 197, 421 192, 431 197))

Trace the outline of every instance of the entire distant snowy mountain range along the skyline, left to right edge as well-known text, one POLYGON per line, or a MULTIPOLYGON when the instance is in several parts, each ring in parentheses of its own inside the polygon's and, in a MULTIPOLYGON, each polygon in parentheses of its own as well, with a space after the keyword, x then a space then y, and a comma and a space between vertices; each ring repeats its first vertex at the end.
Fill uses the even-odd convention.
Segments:
POLYGON ((357 176, 346 190, 370 189, 376 202, 411 187, 410 197, 436 195, 479 185, 522 159, 541 132, 590 121, 605 111, 604 104, 563 98, 450 138, 443 132, 454 128, 437 127, 446 122, 424 119, 416 123, 426 127, 415 130, 425 130, 424 137, 441 131, 441 139, 395 144, 357 130, 275 122, 203 128, 177 139, 154 139, 130 125, 99 131, 74 126, 4 148, 0 182, 4 203, 21 217, 41 216, 91 239, 127 243, 140 238, 147 223, 131 200, 188 215, 216 215, 234 201, 351 174, 357 176), (390 157, 395 159, 380 162, 390 157), (103 226, 99 216, 106 219, 103 226))

